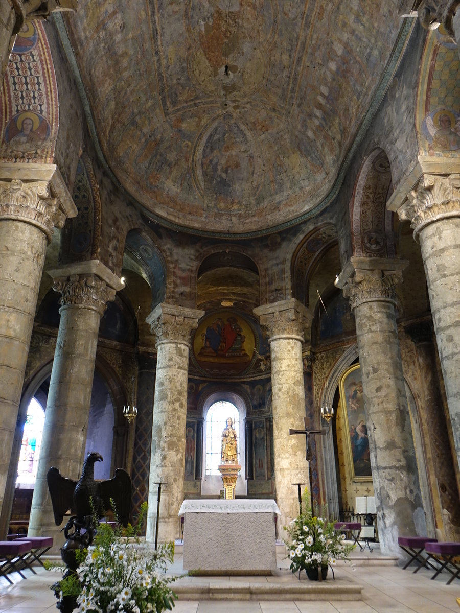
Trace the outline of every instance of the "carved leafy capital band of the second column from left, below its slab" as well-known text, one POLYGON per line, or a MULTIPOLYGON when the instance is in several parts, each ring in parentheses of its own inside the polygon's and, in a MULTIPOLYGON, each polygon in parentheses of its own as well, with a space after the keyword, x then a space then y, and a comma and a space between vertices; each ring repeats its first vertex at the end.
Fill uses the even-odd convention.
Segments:
POLYGON ((59 300, 63 307, 85 307, 104 314, 107 302, 115 299, 115 289, 96 275, 70 275, 55 280, 53 289, 61 292, 59 300))

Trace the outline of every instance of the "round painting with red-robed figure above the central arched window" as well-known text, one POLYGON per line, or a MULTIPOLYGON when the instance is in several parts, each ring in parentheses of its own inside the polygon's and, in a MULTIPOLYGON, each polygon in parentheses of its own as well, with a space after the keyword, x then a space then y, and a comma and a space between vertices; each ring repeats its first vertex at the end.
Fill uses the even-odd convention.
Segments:
POLYGON ((234 311, 218 311, 198 326, 192 359, 207 373, 238 375, 255 360, 255 349, 256 335, 248 320, 234 311))

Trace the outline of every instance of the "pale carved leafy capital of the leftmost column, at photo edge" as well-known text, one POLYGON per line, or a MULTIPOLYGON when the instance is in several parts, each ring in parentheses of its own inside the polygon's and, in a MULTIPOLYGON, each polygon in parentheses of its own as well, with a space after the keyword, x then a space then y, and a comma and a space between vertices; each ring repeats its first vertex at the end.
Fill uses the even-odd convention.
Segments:
POLYGON ((0 219, 18 219, 33 224, 50 242, 53 229, 64 226, 66 215, 59 210, 58 199, 51 197, 48 181, 13 180, 0 181, 0 219))

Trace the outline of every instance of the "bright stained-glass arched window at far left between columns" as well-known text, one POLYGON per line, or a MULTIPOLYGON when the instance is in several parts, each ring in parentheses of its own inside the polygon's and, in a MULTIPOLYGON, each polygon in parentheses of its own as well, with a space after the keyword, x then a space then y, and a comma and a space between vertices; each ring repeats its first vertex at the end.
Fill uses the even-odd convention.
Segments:
POLYGON ((44 424, 44 410, 40 403, 32 398, 24 424, 16 487, 30 487, 35 483, 44 424))

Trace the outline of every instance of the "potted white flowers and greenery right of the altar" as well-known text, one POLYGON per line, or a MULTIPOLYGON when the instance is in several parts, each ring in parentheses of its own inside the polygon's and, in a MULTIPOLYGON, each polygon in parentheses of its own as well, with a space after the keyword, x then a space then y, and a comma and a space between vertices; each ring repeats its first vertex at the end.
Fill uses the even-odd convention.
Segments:
MULTIPOLYGON (((304 570, 312 581, 326 579, 328 568, 337 560, 348 560, 348 554, 355 548, 345 543, 345 535, 334 529, 334 520, 328 517, 313 516, 307 508, 299 517, 293 519, 285 530, 289 538, 285 540, 288 547, 289 568, 296 573, 304 570)), ((335 577, 334 577, 335 578, 335 577)))

